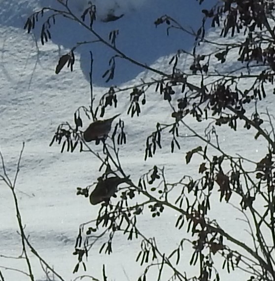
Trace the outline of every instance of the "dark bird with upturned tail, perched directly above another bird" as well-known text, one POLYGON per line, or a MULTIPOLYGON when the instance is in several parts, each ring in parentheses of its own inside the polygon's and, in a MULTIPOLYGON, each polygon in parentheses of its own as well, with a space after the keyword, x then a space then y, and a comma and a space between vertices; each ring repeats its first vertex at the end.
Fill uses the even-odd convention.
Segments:
POLYGON ((115 115, 112 118, 106 120, 97 120, 91 123, 88 128, 84 131, 83 138, 86 142, 98 140, 106 137, 111 130, 112 121, 117 118, 120 114, 115 115))

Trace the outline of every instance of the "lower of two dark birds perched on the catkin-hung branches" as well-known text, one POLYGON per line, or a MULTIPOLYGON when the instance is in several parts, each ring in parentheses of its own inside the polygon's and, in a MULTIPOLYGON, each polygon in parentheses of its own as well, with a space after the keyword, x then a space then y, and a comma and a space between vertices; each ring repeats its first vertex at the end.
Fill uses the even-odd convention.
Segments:
POLYGON ((115 197, 118 185, 124 182, 129 182, 129 177, 130 176, 126 178, 120 178, 115 176, 106 178, 104 180, 100 178, 98 184, 96 185, 96 188, 90 194, 91 204, 96 205, 103 201, 109 201, 112 196, 115 197))

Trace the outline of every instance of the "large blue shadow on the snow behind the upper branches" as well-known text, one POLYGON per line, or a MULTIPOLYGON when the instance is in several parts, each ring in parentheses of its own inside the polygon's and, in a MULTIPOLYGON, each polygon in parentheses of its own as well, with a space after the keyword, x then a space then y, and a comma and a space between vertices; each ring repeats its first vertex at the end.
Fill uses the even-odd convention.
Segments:
MULTIPOLYGON (((143 64, 151 65, 160 57, 175 53, 178 49, 190 50, 194 44, 193 36, 178 30, 171 30, 169 36, 167 36, 166 25, 160 25, 156 28, 154 21, 167 14, 180 22, 182 26, 192 27, 193 30, 197 31, 203 18, 202 9, 210 8, 216 3, 216 0, 207 0, 206 2, 199 5, 197 0, 146 0, 140 6, 136 5, 135 8, 128 7, 126 9, 124 7, 124 10, 122 9, 119 12, 123 12, 125 15, 117 21, 107 23, 100 20, 95 21, 93 28, 104 39, 108 39, 109 32, 119 30, 116 41, 117 48, 127 56, 143 64)), ((57 4, 55 0, 28 0, 18 3, 4 0, 1 2, 0 25, 23 28, 24 21, 32 14, 34 9, 38 9, 38 6, 47 5, 56 7, 57 4), (17 5, 16 9, 14 8, 15 5, 17 5)), ((85 5, 82 3, 82 6, 85 5)), ((75 12, 80 15, 81 11, 77 10, 77 7, 74 8, 75 12)), ((46 19, 46 15, 47 13, 43 16, 44 19, 46 19)), ((41 26, 43 21, 43 19, 40 20, 38 25, 41 26)), ((96 39, 77 22, 72 22, 63 17, 56 19, 56 26, 51 28, 51 33, 52 41, 66 49, 72 48, 77 41, 96 39)), ((40 38, 39 26, 35 28, 34 34, 36 38, 40 38)), ((134 79, 143 71, 142 68, 118 58, 116 60, 115 77, 106 83, 102 75, 108 69, 110 57, 115 53, 101 42, 96 42, 82 45, 76 50, 80 56, 81 70, 87 80, 89 80, 90 72, 90 51, 92 51, 94 57, 93 82, 98 86, 119 85, 134 79)))

